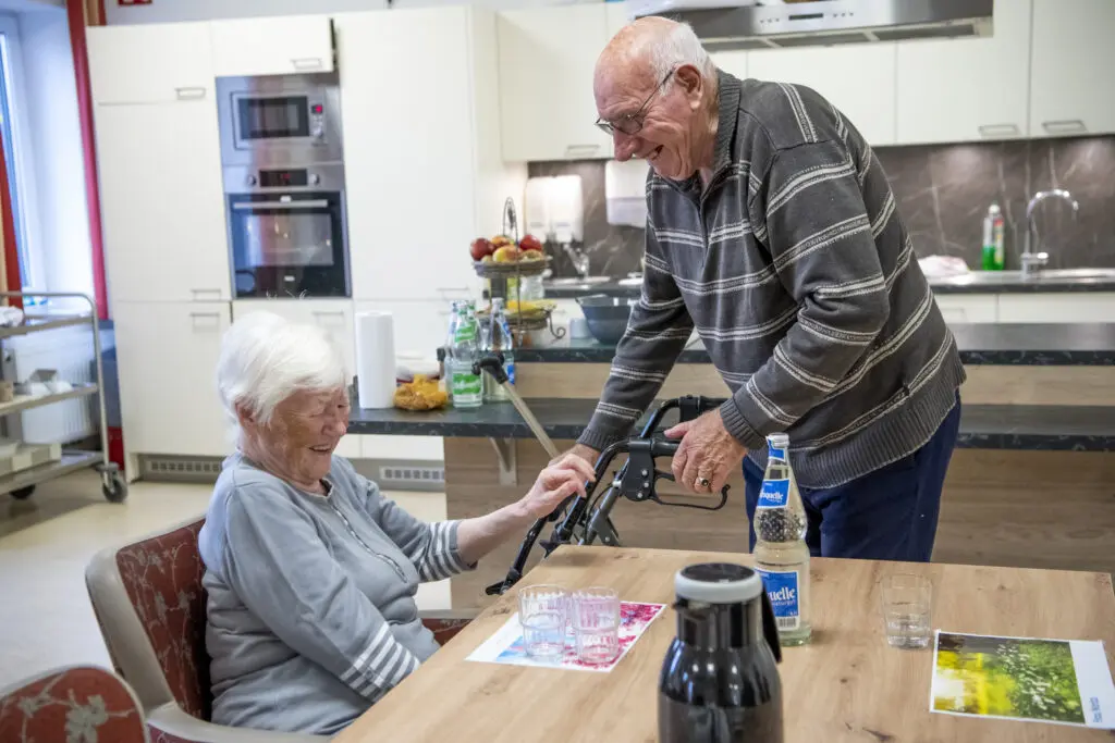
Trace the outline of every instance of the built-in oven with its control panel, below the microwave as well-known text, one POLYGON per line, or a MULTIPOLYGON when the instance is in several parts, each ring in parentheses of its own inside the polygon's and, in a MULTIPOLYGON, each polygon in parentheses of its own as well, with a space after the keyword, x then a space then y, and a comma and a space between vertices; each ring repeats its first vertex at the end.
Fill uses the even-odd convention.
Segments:
POLYGON ((340 166, 226 168, 237 297, 351 296, 340 166))

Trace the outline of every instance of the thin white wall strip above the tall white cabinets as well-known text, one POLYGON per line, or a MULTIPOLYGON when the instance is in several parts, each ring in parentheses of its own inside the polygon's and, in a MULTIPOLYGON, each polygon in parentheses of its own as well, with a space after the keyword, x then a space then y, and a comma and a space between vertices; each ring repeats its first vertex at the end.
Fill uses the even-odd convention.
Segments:
MULTIPOLYGON (((529 8, 533 6, 574 4, 601 0, 394 0, 394 8, 420 8, 445 4, 477 4, 487 8, 529 8)), ((215 18, 251 16, 295 16, 299 13, 339 13, 382 10, 387 0, 153 0, 149 6, 105 3, 105 20, 116 23, 165 23, 215 18)))

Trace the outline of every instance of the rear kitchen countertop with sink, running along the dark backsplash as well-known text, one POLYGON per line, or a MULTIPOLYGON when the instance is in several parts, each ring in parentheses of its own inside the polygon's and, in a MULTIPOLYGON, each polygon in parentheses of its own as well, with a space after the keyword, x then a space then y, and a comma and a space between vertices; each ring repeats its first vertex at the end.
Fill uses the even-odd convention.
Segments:
MULTIPOLYGON (((1020 271, 975 271, 964 276, 933 278, 929 282, 937 294, 1034 294, 1064 292, 1115 292, 1115 270, 1067 268, 1050 271, 1034 278, 1022 278, 1020 271)), ((550 286, 546 297, 570 300, 589 294, 638 297, 638 285, 619 281, 601 284, 550 286)))

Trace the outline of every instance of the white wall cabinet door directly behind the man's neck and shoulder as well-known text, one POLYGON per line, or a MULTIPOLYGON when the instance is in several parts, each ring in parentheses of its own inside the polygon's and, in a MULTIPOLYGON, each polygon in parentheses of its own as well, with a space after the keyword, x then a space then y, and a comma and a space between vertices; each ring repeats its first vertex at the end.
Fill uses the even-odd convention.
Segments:
POLYGON ((750 51, 746 71, 758 80, 813 88, 872 146, 893 145, 896 51, 893 42, 750 51))

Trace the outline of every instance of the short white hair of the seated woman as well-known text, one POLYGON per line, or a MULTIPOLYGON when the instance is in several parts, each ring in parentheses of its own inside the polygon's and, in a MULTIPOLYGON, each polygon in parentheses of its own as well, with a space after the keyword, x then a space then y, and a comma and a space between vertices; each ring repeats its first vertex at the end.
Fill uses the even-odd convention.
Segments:
POLYGON ((255 312, 233 323, 221 340, 216 388, 236 443, 242 433, 239 407, 265 426, 279 403, 295 392, 347 387, 345 359, 317 325, 255 312))

